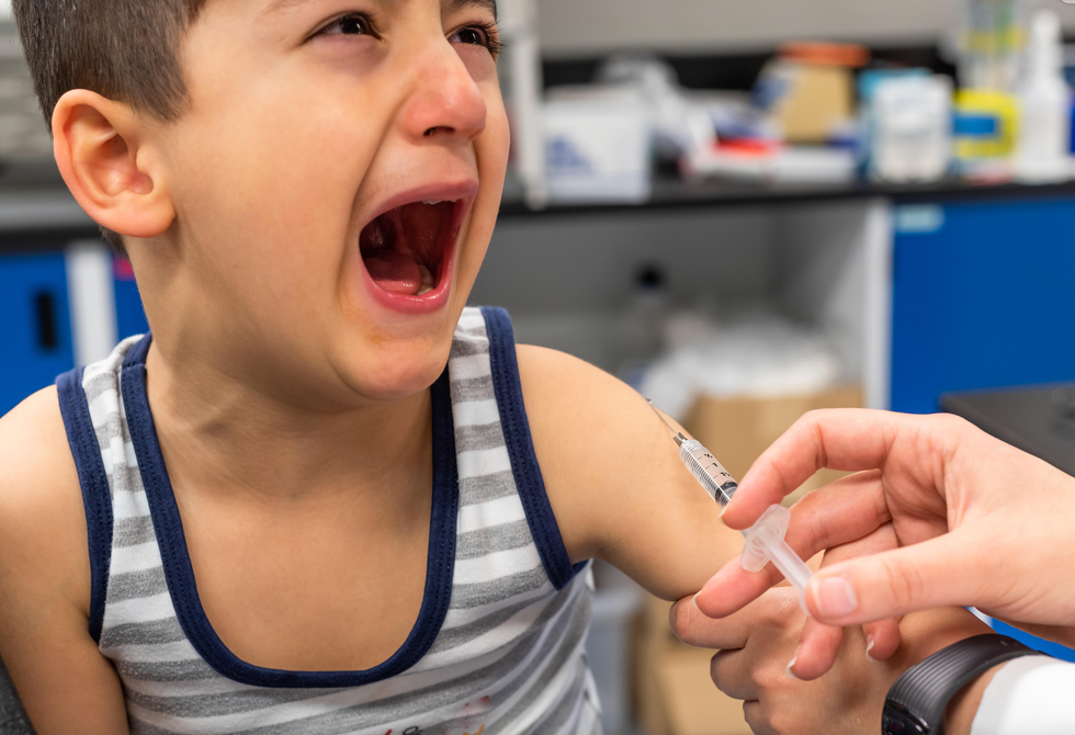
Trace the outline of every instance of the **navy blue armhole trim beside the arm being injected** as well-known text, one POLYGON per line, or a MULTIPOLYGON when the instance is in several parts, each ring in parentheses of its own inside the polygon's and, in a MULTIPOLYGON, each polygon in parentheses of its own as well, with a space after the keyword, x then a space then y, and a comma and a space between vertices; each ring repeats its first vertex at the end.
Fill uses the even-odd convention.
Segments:
POLYGON ((556 589, 563 589, 580 572, 586 562, 572 566, 572 558, 559 533, 559 524, 553 514, 553 507, 545 493, 545 480, 538 466, 534 442, 530 436, 530 421, 522 402, 522 385, 519 383, 519 361, 516 358, 516 339, 511 330, 511 319, 502 308, 482 307, 485 330, 489 336, 489 359, 493 368, 493 392, 500 410, 500 426, 503 441, 511 457, 511 474, 527 511, 530 533, 538 544, 538 555, 545 566, 545 574, 556 589))

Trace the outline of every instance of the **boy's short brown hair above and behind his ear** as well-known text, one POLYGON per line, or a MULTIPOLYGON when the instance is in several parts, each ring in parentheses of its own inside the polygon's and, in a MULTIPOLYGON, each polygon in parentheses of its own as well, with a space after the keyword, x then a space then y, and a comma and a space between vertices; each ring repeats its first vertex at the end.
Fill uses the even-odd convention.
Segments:
MULTIPOLYGON (((88 89, 163 121, 186 109, 179 45, 205 0, 12 0, 45 124, 56 102, 88 89)), ((124 252, 117 233, 101 234, 124 252)))

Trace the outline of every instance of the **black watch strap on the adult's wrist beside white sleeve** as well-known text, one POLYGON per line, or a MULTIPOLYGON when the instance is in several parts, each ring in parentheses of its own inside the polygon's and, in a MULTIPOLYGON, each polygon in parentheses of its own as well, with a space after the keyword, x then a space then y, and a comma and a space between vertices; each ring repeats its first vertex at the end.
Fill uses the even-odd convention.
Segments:
POLYGON ((944 709, 955 692, 997 664, 1037 653, 997 633, 941 648, 892 685, 881 716, 882 735, 943 735, 944 709))

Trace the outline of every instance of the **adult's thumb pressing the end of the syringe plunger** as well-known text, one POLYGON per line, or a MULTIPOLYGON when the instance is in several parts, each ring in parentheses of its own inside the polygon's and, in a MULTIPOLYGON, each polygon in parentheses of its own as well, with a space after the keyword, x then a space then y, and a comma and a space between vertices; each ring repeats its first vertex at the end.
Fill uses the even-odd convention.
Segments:
POLYGON ((955 534, 821 569, 806 587, 818 621, 855 625, 947 604, 975 604, 988 572, 955 534))

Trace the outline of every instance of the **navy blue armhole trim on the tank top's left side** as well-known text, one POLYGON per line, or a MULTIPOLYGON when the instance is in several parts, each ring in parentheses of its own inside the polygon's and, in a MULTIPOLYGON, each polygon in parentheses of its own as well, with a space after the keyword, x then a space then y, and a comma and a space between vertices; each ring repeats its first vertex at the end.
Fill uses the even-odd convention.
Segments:
POLYGON ((112 493, 104 471, 101 446, 90 419, 90 407, 82 391, 82 369, 76 368, 56 378, 59 412, 64 416, 67 443, 71 446, 78 483, 86 509, 86 534, 90 551, 90 635, 100 643, 104 622, 104 599, 109 590, 112 561, 112 493))

